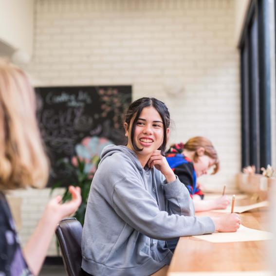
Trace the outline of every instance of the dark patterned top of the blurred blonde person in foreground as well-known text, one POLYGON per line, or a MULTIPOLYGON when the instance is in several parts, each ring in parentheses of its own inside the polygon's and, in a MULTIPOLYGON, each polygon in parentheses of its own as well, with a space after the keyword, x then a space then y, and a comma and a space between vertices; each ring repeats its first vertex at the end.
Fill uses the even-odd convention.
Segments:
POLYGON ((23 257, 15 223, 2 192, 0 192, 0 276, 33 275, 23 257))

